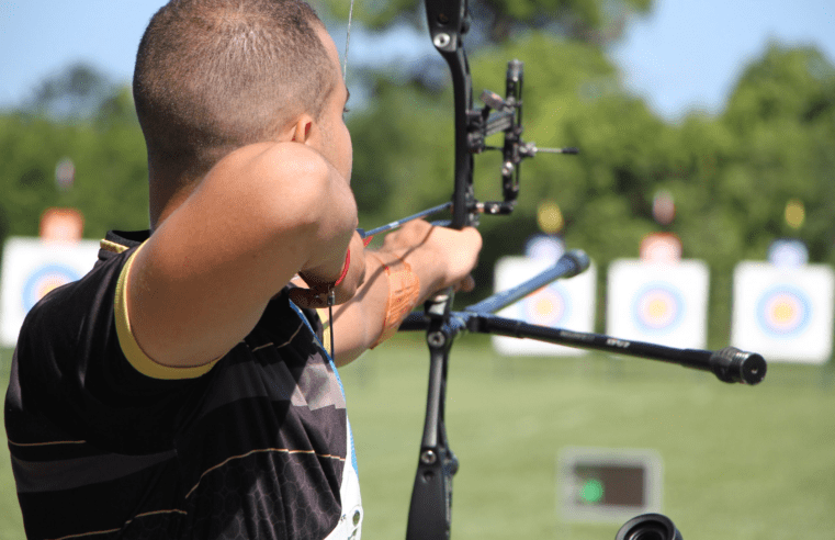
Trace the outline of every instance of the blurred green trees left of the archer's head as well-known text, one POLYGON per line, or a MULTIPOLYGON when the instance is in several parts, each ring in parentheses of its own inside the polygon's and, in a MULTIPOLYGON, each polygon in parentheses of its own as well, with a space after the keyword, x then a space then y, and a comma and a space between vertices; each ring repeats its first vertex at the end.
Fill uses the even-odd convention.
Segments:
POLYGON ((132 112, 128 88, 114 88, 86 116, 33 111, 0 115, 0 214, 5 234, 36 236, 50 206, 72 206, 84 215, 84 235, 110 228, 147 227, 145 145, 132 112), (69 158, 75 182, 55 182, 58 161, 69 158))

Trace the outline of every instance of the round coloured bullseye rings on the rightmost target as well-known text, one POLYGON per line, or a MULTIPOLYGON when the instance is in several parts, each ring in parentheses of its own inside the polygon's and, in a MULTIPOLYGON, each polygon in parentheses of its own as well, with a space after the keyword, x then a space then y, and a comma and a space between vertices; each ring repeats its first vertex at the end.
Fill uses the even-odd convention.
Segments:
POLYGON ((777 285, 757 301, 757 322, 766 334, 793 336, 802 333, 811 319, 812 302, 800 289, 777 285))

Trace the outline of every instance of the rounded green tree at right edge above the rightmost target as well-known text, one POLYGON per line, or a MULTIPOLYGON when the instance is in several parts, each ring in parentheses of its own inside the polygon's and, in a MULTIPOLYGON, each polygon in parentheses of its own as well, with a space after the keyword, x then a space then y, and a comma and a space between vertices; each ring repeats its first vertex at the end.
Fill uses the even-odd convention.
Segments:
POLYGON ((723 192, 747 214, 742 227, 749 245, 761 255, 768 238, 799 236, 813 260, 832 261, 835 68, 813 48, 771 45, 743 74, 723 121, 737 138, 723 192), (790 199, 806 207, 799 230, 783 220, 790 199))

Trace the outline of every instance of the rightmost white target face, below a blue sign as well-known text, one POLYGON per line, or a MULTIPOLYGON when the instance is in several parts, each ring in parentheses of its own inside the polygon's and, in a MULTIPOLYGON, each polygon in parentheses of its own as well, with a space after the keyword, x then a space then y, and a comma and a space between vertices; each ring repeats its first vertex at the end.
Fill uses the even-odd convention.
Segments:
POLYGON ((834 290, 827 265, 741 262, 734 270, 731 344, 759 352, 766 361, 826 362, 834 290))

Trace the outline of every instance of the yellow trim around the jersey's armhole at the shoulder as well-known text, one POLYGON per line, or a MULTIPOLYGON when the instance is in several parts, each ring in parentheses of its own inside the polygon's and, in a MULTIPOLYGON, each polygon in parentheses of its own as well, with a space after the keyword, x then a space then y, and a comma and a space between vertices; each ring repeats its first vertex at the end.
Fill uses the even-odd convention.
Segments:
MULTIPOLYGON (((115 246, 120 246, 115 244, 115 246)), ((144 246, 144 244, 143 244, 144 246)), ((203 365, 195 365, 193 368, 171 368, 169 365, 162 365, 151 360, 145 351, 142 350, 139 344, 136 342, 133 329, 131 328, 131 319, 127 316, 127 280, 133 266, 136 254, 143 248, 139 248, 131 254, 131 257, 122 268, 122 273, 119 275, 116 282, 116 296, 114 299, 114 313, 116 319, 116 335, 119 336, 119 345, 122 347, 122 352, 131 362, 131 365, 139 373, 151 379, 176 380, 176 379, 195 379, 203 375, 211 370, 217 360, 213 360, 203 365)), ((124 246, 120 246, 124 247, 124 246)), ((106 248, 105 248, 106 249, 106 248)), ((112 250, 112 249, 111 249, 112 250)))

